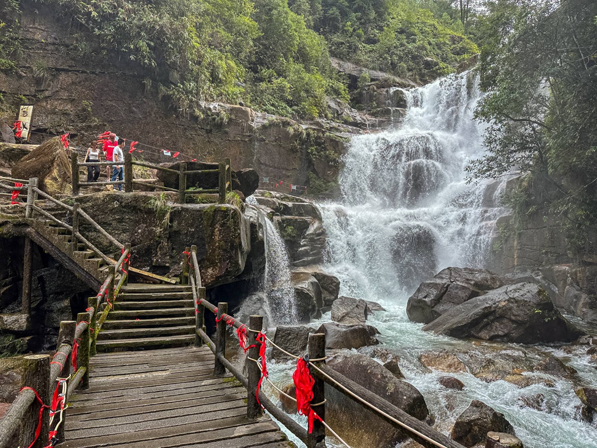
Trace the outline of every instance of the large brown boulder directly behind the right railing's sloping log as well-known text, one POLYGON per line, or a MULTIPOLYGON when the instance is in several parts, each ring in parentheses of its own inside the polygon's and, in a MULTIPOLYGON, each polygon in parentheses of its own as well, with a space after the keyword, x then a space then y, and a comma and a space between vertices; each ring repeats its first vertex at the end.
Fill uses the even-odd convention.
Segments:
MULTIPOLYGON (((417 419, 428 415, 423 395, 396 378, 377 361, 359 354, 337 355, 327 361, 341 375, 358 383, 417 419)), ((325 419, 353 448, 393 447, 405 434, 377 413, 325 385, 325 419)))

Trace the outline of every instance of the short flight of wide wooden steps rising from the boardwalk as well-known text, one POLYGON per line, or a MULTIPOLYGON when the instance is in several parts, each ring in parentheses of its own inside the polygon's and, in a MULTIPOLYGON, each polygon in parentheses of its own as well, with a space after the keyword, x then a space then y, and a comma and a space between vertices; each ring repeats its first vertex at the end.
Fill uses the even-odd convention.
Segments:
MULTIPOLYGON (((101 305, 100 311, 110 306, 101 305)), ((195 342, 195 304, 190 286, 123 286, 97 335, 97 351, 191 345, 195 342)))

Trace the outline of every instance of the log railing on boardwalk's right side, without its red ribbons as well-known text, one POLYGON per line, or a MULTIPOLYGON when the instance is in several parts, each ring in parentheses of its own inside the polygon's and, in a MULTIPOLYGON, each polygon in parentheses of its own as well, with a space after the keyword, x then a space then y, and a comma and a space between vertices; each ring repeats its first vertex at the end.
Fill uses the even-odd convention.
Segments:
MULTIPOLYGON (((188 249, 188 248, 187 248, 188 249)), ((188 275, 190 283, 193 286, 193 297, 195 297, 195 309, 196 309, 196 320, 195 320, 195 332, 196 332, 196 345, 202 343, 207 344, 211 351, 216 356, 214 364, 214 375, 223 375, 224 369, 228 369, 232 375, 242 383, 247 389, 247 417, 254 419, 261 415, 262 409, 259 403, 257 403, 257 384, 261 378, 261 370, 259 360, 259 347, 260 341, 257 340, 257 336, 263 335, 263 317, 259 315, 253 315, 249 318, 248 327, 237 322, 234 318, 227 314, 228 304, 225 302, 218 303, 215 306, 205 300, 205 289, 201 287, 201 279, 198 277, 199 265, 196 262, 196 256, 194 255, 196 247, 190 248, 190 259, 192 263, 190 272, 188 275), (195 290, 197 292, 195 293, 195 290), (202 290, 202 292, 201 292, 202 290), (204 315, 205 309, 213 312, 216 315, 219 325, 216 328, 216 335, 212 340, 205 332, 204 326, 204 315), (228 326, 233 329, 241 329, 245 327, 247 329, 247 345, 251 347, 248 351, 247 362, 248 364, 248 375, 244 376, 242 372, 233 366, 230 361, 224 357, 226 352, 226 330, 228 326)), ((186 263, 187 258, 183 261, 186 263)), ((265 339, 274 345, 269 338, 265 339)), ((276 346, 277 347, 277 346, 276 346)), ((279 347, 278 347, 279 348, 279 347)), ((295 358, 298 355, 289 354, 295 358)), ((392 403, 383 398, 379 397, 373 392, 368 391, 358 383, 353 382, 346 376, 341 375, 333 368, 325 364, 325 335, 322 333, 316 333, 309 335, 309 370, 315 384, 313 385, 313 399, 311 406, 315 412, 322 418, 324 423, 319 422, 317 419, 313 422, 313 431, 309 434, 303 426, 299 425, 284 411, 278 409, 278 407, 271 401, 266 395, 260 391, 259 401, 264 409, 267 410, 276 420, 281 422, 282 425, 298 437, 303 443, 307 445, 307 448, 319 448, 325 446, 325 432, 326 428, 331 431, 333 435, 341 440, 340 436, 333 432, 333 428, 330 428, 325 424, 325 389, 324 383, 336 388, 342 394, 351 398, 352 400, 358 401, 363 406, 370 408, 374 412, 378 413, 381 418, 385 419, 390 424, 397 426, 399 429, 405 432, 408 436, 413 438, 421 445, 427 448, 464 448, 461 444, 452 440, 451 438, 441 434, 441 432, 435 431, 435 429, 424 424, 420 420, 404 412, 399 407, 396 407, 392 403)), ((279 389, 278 389, 279 391, 279 389)), ((284 393, 280 391, 281 393, 284 393)), ((293 399, 292 397, 288 397, 293 399)), ((343 442, 343 441, 342 441, 343 442)), ((344 443, 344 442, 343 442, 344 443)), ((348 446, 346 443, 344 445, 348 446)))

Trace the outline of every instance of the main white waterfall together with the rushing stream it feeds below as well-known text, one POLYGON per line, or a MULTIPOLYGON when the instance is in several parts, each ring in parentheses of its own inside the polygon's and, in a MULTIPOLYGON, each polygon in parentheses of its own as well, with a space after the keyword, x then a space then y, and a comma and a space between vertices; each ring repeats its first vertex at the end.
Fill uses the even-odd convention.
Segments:
MULTIPOLYGON (((407 115, 399 128, 352 139, 339 178, 343 200, 322 207, 330 249, 326 271, 340 278, 340 294, 374 300, 387 309, 368 323, 401 354, 402 373, 438 417, 437 429, 449 431, 477 399, 504 413, 527 448, 597 446, 595 429, 574 420, 578 399, 568 381, 548 376, 555 387, 518 389, 504 381, 488 384, 469 373, 455 373, 451 375, 466 385, 455 394, 439 386, 438 377, 445 374, 421 370, 418 357, 423 351, 477 349, 466 341, 421 331, 420 324, 408 321, 405 305, 418 284, 440 269, 484 266, 495 220, 503 213, 497 205, 503 185, 464 181, 467 161, 483 151, 483 128, 473 120, 482 94, 470 73, 405 94, 407 115), (536 394, 551 410, 521 406, 521 397, 536 394)), ((595 384, 594 367, 586 356, 570 364, 583 381, 595 384)))

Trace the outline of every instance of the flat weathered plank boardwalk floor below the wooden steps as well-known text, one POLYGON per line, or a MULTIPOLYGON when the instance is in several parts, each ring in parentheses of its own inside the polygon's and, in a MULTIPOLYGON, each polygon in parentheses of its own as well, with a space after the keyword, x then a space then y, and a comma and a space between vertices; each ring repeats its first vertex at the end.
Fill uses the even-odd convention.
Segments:
POLYGON ((267 416, 247 419, 247 391, 213 375, 209 348, 97 354, 90 388, 76 391, 63 448, 288 448, 267 416))

